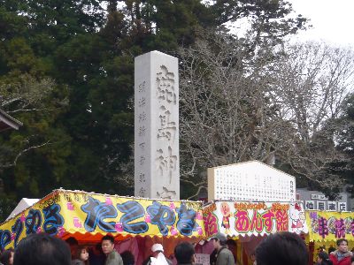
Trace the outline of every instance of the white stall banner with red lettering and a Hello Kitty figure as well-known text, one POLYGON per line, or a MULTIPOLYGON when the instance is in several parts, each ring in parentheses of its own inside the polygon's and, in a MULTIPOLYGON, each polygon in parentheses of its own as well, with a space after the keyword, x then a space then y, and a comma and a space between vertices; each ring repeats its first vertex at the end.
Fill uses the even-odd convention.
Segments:
POLYGON ((208 237, 217 232, 229 236, 263 236, 277 231, 307 233, 301 203, 215 201, 203 208, 208 237))

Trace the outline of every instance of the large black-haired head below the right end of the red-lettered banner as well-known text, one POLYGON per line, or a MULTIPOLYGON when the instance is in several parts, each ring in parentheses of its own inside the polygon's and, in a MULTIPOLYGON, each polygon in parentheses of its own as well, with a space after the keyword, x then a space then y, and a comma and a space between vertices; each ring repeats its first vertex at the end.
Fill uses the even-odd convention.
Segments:
POLYGON ((257 265, 307 265, 307 246, 295 233, 271 234, 256 248, 257 265))

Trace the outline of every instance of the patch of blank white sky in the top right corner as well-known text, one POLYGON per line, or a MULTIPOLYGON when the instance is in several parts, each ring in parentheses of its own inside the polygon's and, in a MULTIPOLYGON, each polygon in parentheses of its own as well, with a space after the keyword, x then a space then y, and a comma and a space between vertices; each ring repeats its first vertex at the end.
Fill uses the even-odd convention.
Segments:
POLYGON ((300 40, 323 40, 354 46, 354 0, 289 0, 297 13, 311 19, 312 29, 300 40))

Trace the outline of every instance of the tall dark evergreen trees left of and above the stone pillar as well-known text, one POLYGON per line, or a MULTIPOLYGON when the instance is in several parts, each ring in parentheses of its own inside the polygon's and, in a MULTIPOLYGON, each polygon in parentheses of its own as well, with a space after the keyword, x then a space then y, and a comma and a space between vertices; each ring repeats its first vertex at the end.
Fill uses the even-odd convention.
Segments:
POLYGON ((0 135, 3 196, 60 186, 133 193, 134 57, 174 53, 201 28, 242 18, 257 28, 258 39, 243 43, 252 53, 304 27, 306 19, 284 19, 291 11, 285 1, 1 1, 0 94, 24 123, 0 135))

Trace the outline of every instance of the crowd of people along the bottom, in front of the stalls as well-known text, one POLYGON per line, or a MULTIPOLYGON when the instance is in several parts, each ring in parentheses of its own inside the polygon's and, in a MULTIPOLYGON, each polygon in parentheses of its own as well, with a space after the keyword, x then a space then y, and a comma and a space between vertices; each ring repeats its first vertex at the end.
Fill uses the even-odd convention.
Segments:
MULTIPOLYGON (((235 265, 235 252, 229 239, 218 233, 212 238, 215 251, 211 265, 235 265), (227 243, 228 242, 228 243, 227 243)), ((337 249, 327 254, 321 249, 317 265, 354 265, 353 254, 348 250, 348 241, 338 239, 337 249)), ((196 264, 195 246, 181 242, 174 248, 178 265, 196 264)), ((298 235, 278 232, 263 239, 254 252, 254 265, 307 265, 308 248, 298 235)), ((16 250, 8 249, 0 255, 1 265, 135 265, 135 256, 129 251, 119 254, 114 247, 114 238, 106 235, 94 247, 79 246, 74 238, 58 239, 45 233, 32 234, 19 242, 16 250)), ((143 265, 169 265, 161 244, 151 247, 151 255, 143 265)))

